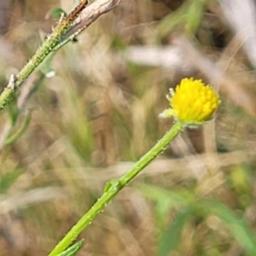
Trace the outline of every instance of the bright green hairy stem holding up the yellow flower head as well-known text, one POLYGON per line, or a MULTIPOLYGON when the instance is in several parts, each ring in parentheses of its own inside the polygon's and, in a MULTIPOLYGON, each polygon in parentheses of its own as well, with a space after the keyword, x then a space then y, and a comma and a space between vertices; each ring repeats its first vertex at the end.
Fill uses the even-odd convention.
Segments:
POLYGON ((73 226, 73 228, 67 233, 66 236, 56 245, 49 256, 56 256, 59 253, 63 252, 71 243, 74 241, 79 234, 87 227, 91 221, 96 217, 99 212, 108 205, 108 203, 113 199, 113 196, 118 194, 121 189, 125 187, 131 180, 137 176, 139 172, 143 170, 145 166, 154 160, 154 158, 162 153, 168 144, 183 130, 183 124, 176 122, 172 125, 170 131, 166 133, 164 137, 160 139, 158 143, 151 148, 148 153, 144 154, 143 157, 137 161, 135 166, 133 166, 128 172, 126 172, 122 177, 119 178, 116 182, 112 183, 105 193, 96 201, 96 204, 90 208, 88 212, 80 218, 79 222, 73 226))

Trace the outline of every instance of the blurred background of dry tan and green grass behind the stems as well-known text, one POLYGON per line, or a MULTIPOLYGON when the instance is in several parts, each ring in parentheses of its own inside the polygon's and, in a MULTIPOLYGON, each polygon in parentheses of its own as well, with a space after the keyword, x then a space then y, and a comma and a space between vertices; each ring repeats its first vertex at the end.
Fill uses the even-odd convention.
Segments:
MULTIPOLYGON (((1 2, 2 88, 55 24, 50 10, 74 2, 1 2)), ((256 255, 255 49, 224 8, 124 0, 56 52, 54 78, 32 74, 1 113, 1 255, 49 253, 170 128, 158 114, 190 76, 220 91, 216 119, 183 132, 125 188, 80 236, 79 255, 256 255)))

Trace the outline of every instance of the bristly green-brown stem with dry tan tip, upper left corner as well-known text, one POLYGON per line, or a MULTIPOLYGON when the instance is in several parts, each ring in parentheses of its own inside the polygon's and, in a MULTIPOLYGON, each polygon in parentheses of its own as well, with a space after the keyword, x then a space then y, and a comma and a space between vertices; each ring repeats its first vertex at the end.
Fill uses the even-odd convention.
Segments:
POLYGON ((67 15, 67 17, 62 17, 36 53, 32 55, 32 58, 20 70, 20 73, 11 75, 9 84, 4 88, 0 95, 0 111, 3 110, 12 96, 14 96, 15 90, 18 90, 20 85, 30 76, 36 67, 45 60, 49 53, 61 44, 61 40, 65 38, 65 35, 68 32, 72 31, 72 34, 69 35, 68 38, 72 38, 73 34, 78 35, 87 26, 90 26, 90 24, 100 15, 107 13, 121 1, 122 0, 98 0, 90 4, 88 8, 84 9, 88 0, 83 0, 69 15, 67 15))

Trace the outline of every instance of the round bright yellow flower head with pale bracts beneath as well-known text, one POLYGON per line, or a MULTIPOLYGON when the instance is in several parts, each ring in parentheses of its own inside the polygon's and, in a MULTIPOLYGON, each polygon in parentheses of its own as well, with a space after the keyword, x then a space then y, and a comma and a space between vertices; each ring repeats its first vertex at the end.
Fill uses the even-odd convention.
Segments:
POLYGON ((212 119, 220 100, 210 85, 197 79, 182 79, 176 91, 167 96, 172 108, 166 109, 160 117, 174 116, 187 125, 201 125, 212 119))

